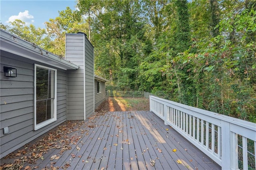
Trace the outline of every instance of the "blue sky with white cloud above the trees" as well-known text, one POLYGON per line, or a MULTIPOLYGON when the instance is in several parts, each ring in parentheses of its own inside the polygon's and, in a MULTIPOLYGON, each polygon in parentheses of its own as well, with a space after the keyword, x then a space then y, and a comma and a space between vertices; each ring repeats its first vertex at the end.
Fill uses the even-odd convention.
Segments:
POLYGON ((45 28, 44 22, 59 16, 58 11, 69 6, 75 10, 75 0, 0 0, 0 22, 20 19, 26 24, 45 28))

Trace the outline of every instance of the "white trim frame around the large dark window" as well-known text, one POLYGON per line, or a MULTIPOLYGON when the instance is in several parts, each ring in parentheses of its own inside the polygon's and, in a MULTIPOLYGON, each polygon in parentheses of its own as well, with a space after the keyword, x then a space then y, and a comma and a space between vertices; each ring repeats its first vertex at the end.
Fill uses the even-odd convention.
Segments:
POLYGON ((50 123, 53 123, 56 120, 57 120, 57 69, 35 64, 35 67, 34 67, 34 130, 38 130, 42 127, 45 127, 46 125, 49 125, 50 123), (53 118, 39 124, 36 124, 36 67, 41 67, 41 68, 50 69, 54 71, 53 118))

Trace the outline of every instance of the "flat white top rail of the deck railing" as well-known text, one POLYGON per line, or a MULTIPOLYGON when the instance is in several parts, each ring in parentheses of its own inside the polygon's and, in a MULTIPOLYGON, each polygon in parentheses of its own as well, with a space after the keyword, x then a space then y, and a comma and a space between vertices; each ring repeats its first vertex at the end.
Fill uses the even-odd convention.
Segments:
POLYGON ((194 111, 194 112, 197 112, 197 113, 209 116, 209 117, 220 119, 222 121, 226 121, 226 122, 232 123, 234 125, 238 125, 238 126, 245 127, 245 128, 248 128, 248 129, 256 131, 256 123, 244 121, 244 120, 237 119, 237 118, 234 118, 234 117, 229 117, 229 116, 226 116, 226 115, 221 115, 219 113, 214 113, 214 112, 211 112, 211 111, 206 111, 204 109, 199 109, 199 108, 196 108, 196 107, 184 105, 184 104, 181 104, 181 103, 177 103, 177 102, 174 102, 174 101, 170 101, 170 100, 166 100, 166 99, 162 99, 162 98, 150 95, 150 99, 151 98, 159 100, 159 101, 163 101, 163 102, 166 102, 166 103, 170 103, 172 105, 175 105, 175 106, 178 106, 178 107, 182 107, 184 109, 188 109, 188 110, 191 110, 191 111, 194 111))

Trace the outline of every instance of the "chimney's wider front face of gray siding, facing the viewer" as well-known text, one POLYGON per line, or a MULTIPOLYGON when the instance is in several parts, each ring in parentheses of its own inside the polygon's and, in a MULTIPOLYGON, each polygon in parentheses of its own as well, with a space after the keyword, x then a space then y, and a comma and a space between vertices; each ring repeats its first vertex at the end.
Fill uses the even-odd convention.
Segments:
POLYGON ((79 66, 68 70, 67 119, 84 120, 84 35, 66 34, 66 60, 79 66))

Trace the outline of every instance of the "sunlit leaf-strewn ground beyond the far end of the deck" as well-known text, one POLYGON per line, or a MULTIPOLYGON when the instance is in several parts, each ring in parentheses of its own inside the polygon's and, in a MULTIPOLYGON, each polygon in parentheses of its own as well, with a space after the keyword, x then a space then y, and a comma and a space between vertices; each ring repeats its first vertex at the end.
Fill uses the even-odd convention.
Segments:
POLYGON ((149 111, 149 99, 146 98, 122 98, 109 97, 95 111, 113 112, 113 111, 149 111))

